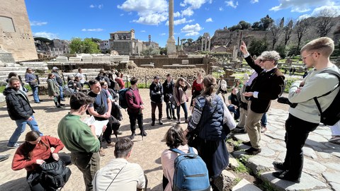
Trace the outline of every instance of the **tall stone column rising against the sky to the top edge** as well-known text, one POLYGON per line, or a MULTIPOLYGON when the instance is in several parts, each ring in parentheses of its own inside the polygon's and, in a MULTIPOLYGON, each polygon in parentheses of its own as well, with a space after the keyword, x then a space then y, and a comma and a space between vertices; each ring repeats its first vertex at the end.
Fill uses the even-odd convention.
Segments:
POLYGON ((176 55, 176 41, 174 37, 174 0, 169 0, 169 38, 166 40, 168 56, 176 55))

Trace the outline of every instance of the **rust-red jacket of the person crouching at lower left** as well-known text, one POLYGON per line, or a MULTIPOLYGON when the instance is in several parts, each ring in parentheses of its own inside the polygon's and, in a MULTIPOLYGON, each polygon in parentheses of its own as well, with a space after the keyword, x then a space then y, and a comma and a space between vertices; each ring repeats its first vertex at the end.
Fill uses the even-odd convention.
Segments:
POLYGON ((46 160, 47 158, 50 158, 53 154, 57 154, 60 150, 64 148, 64 144, 62 144, 62 141, 60 139, 57 139, 55 137, 50 136, 42 136, 41 141, 35 145, 35 148, 33 149, 33 153, 31 156, 31 160, 28 161, 28 159, 24 156, 25 150, 28 148, 28 143, 21 144, 21 146, 18 147, 16 150, 16 154, 13 156, 12 161, 12 169, 13 170, 21 170, 25 168, 27 171, 35 170, 39 165, 35 163, 37 159, 46 160), (45 145, 43 145, 41 142, 43 142, 45 145), (51 147, 55 148, 55 150, 52 152, 51 147))

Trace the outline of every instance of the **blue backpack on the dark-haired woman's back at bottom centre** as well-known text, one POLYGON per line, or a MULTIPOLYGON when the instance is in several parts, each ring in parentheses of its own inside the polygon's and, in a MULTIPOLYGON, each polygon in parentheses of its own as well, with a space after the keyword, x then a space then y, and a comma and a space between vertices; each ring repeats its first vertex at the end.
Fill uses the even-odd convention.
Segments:
POLYGON ((172 190, 210 191, 208 168, 202 158, 193 152, 193 148, 189 146, 187 154, 179 149, 169 150, 180 154, 174 163, 172 190))

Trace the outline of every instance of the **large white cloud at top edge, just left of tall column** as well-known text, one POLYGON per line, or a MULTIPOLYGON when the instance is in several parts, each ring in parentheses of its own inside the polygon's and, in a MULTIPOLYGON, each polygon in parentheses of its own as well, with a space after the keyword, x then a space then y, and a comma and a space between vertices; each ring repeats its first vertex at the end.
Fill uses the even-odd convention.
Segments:
POLYGON ((168 3, 166 0, 126 0, 118 8, 124 11, 136 11, 138 19, 135 23, 158 25, 168 18, 168 3))

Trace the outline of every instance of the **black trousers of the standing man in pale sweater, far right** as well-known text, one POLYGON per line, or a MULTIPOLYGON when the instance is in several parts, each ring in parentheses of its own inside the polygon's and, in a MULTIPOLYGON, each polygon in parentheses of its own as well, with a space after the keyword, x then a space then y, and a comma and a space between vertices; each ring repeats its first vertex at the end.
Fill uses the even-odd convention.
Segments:
POLYGON ((300 178, 303 168, 303 151, 310 132, 317 129, 318 123, 307 122, 293 115, 288 116, 285 121, 285 146, 287 153, 283 166, 288 168, 288 172, 293 178, 300 178))

